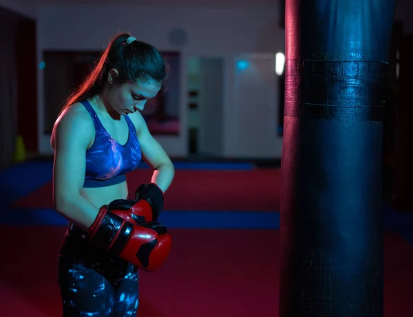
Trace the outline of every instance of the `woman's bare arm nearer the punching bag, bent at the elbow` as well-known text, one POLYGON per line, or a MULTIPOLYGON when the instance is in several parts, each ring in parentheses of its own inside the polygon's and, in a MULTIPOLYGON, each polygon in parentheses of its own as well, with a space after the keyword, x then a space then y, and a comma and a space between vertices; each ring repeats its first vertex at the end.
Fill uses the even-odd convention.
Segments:
POLYGON ((131 119, 136 126, 142 158, 151 166, 153 175, 151 182, 157 184, 165 193, 175 175, 175 168, 171 159, 167 155, 158 141, 153 138, 142 115, 136 111, 131 115, 131 119))

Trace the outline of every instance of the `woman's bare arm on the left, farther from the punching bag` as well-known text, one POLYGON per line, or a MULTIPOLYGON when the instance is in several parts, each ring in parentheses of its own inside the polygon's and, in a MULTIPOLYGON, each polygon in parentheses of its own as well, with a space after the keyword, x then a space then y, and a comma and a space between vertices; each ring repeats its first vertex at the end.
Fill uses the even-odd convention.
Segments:
MULTIPOLYGON (((86 150, 94 134, 93 122, 81 107, 72 105, 54 124, 54 208, 76 226, 87 230, 99 208, 81 195, 85 182, 86 150)), ((100 207, 100 206, 99 206, 100 207)))

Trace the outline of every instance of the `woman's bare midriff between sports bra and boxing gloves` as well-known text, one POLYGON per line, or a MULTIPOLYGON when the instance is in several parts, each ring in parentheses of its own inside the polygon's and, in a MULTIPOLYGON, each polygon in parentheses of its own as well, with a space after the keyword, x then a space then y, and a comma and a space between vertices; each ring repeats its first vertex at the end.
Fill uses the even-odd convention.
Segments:
POLYGON ((94 206, 100 208, 115 199, 127 199, 127 183, 123 182, 107 187, 82 188, 81 195, 94 206))

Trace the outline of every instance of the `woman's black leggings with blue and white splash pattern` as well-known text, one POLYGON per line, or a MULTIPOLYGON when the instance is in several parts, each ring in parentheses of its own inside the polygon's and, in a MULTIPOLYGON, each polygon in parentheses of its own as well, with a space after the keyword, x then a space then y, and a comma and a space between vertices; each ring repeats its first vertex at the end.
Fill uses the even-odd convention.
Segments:
POLYGON ((70 225, 58 264, 63 317, 136 316, 138 271, 89 243, 87 234, 70 225))

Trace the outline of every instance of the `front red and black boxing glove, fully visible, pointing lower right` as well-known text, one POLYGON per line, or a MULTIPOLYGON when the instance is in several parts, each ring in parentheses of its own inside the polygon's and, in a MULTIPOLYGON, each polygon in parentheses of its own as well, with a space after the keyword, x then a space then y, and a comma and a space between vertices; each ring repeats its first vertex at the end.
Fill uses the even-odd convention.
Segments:
POLYGON ((171 250, 171 237, 160 223, 127 221, 125 212, 119 215, 100 208, 98 216, 89 228, 92 243, 107 252, 147 272, 154 272, 164 263, 171 250))

